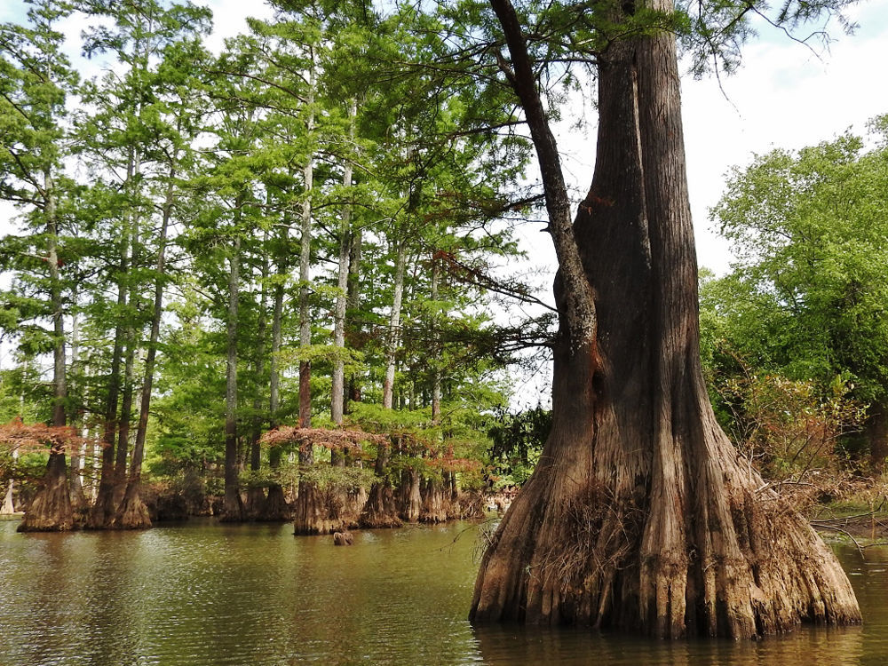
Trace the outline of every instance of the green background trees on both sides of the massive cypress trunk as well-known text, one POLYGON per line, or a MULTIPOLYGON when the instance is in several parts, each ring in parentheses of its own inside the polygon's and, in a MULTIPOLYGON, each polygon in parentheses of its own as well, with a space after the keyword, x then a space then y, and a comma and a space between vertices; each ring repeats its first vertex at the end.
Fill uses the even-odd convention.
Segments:
MULTIPOLYGON (((28 4, 0 28, 0 198, 19 212, 0 245, 0 474, 25 529, 389 527, 527 480, 551 414, 505 414, 498 371, 550 345, 551 321, 505 328, 491 306, 543 305, 496 272, 519 255, 509 218, 541 198, 511 91, 456 67, 433 16, 281 3, 213 53, 194 4, 28 4), (62 48, 74 13, 105 63, 90 80, 62 48)), ((888 453, 873 129, 869 149, 757 157, 713 211, 739 260, 702 281, 703 366, 776 483, 888 453)))

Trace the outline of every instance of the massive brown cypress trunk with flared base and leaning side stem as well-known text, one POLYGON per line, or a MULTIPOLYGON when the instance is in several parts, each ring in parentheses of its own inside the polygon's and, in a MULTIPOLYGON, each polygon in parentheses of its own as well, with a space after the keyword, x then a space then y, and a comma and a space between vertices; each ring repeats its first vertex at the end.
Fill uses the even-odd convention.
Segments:
MULTIPOLYGON (((520 77, 511 4, 491 4, 520 77)), ((533 99, 522 102, 530 120, 533 99)), ((551 157, 536 145, 541 162, 551 157)), ((859 621, 832 552, 741 464, 710 407, 665 31, 614 43, 599 64, 598 154, 574 233, 594 295, 591 336, 576 328, 559 256, 552 429, 481 563, 472 619, 663 638, 859 621)))

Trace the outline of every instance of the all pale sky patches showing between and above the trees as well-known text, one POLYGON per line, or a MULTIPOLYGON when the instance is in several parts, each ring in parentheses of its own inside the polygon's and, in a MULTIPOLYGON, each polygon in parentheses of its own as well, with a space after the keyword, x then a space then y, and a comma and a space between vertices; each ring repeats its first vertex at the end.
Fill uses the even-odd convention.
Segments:
MULTIPOLYGON (((201 0, 198 0, 200 3, 201 0)), ((227 36, 246 30, 247 16, 270 17, 267 4, 243 0, 206 0, 214 14, 210 48, 218 49, 227 36)), ((0 1, 0 21, 21 20, 24 0, 0 1)), ((797 149, 836 137, 848 128, 862 133, 875 115, 888 113, 888 86, 879 72, 888 51, 888 0, 864 0, 852 7, 859 28, 844 35, 829 26, 833 41, 824 50, 808 48, 768 28, 746 45, 743 64, 720 81, 709 76, 682 82, 687 176, 700 264, 724 274, 732 255, 727 243, 711 229, 710 207, 722 194, 725 173, 749 164, 754 154, 773 148, 797 149)), ((97 74, 100 62, 79 58, 76 36, 85 27, 71 20, 64 30, 70 55, 97 74)), ((582 111, 581 111, 582 113, 582 111)), ((594 111, 590 111, 594 113, 594 111)), ((591 180, 594 122, 576 131, 568 123, 557 130, 565 155, 567 178, 584 192, 591 180)), ((9 208, 0 208, 0 232, 8 230, 9 208)), ((535 229, 520 232, 535 261, 554 270, 554 253, 540 242, 535 229)))

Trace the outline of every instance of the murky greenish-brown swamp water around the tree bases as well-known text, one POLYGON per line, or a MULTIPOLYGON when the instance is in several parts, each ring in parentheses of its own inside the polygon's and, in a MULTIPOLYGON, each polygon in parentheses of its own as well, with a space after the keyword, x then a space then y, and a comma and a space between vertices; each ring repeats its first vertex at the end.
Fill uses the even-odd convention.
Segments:
POLYGON ((836 546, 865 624, 663 643, 467 622, 478 526, 294 537, 194 520, 19 535, 0 521, 0 666, 888 663, 888 548, 836 546))

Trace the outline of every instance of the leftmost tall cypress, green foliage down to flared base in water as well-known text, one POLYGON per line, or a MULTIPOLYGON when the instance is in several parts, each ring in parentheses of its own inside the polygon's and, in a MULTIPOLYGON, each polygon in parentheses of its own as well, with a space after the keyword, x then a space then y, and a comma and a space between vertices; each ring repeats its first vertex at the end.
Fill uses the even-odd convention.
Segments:
MULTIPOLYGON (((71 182, 64 117, 67 95, 77 75, 61 52, 56 30, 71 6, 39 0, 28 9, 28 26, 0 26, 0 198, 25 211, 31 234, 4 239, 5 266, 16 266, 20 280, 6 294, 18 314, 20 342, 33 352, 52 350, 52 425, 67 422, 66 292, 62 274, 68 258, 62 245, 62 210, 71 182), (25 322, 30 321, 30 325, 25 322), (50 322, 50 329, 44 322, 50 322)), ((69 258, 72 262, 75 257, 69 258)), ((67 490, 65 451, 52 448, 41 488, 28 506, 20 531, 73 527, 67 490)))

